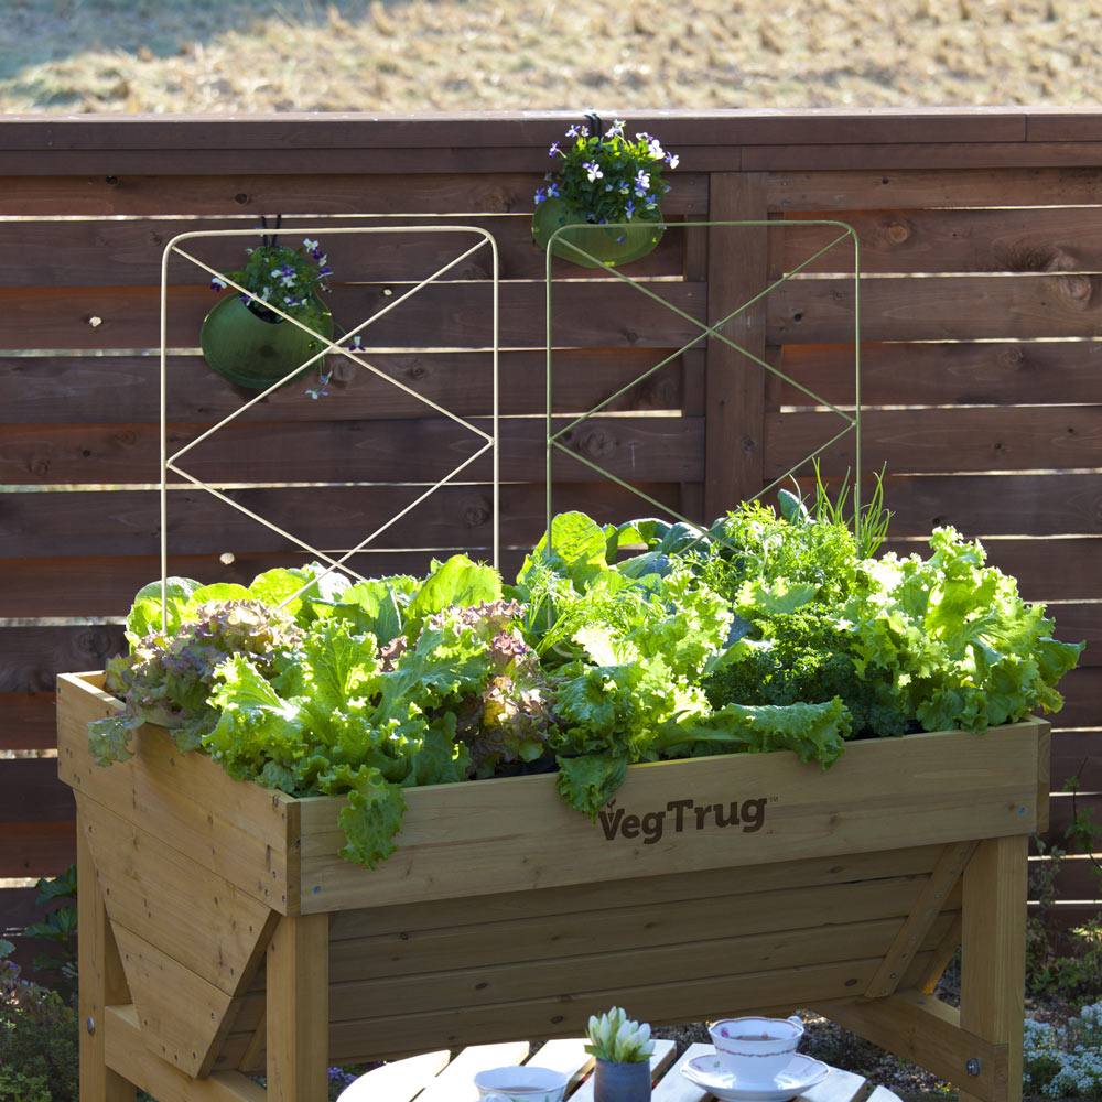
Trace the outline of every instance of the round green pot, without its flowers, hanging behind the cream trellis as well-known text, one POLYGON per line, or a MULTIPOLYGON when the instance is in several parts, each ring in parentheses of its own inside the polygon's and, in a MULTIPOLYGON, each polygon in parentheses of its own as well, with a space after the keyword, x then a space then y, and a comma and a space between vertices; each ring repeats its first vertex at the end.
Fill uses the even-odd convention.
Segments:
MULTIPOLYGON (((333 336, 333 315, 315 295, 312 327, 333 336)), ((262 309, 262 307, 258 307, 262 309)), ((199 344, 203 358, 224 379, 249 390, 267 390, 280 379, 292 382, 321 368, 323 359, 295 371, 322 348, 314 333, 269 314, 269 321, 250 310, 236 294, 220 299, 203 322, 199 344)))

